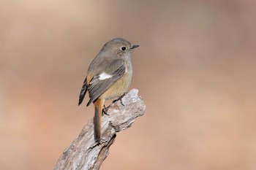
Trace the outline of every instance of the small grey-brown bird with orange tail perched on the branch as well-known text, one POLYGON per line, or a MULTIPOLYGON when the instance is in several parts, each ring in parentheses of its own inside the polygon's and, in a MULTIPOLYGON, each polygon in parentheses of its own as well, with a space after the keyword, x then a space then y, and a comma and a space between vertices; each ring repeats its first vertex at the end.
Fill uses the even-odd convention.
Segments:
POLYGON ((89 92, 89 102, 94 103, 94 139, 100 141, 101 117, 105 100, 117 98, 127 92, 132 80, 131 52, 139 45, 131 45, 126 39, 116 38, 107 42, 91 62, 83 88, 80 105, 89 92))

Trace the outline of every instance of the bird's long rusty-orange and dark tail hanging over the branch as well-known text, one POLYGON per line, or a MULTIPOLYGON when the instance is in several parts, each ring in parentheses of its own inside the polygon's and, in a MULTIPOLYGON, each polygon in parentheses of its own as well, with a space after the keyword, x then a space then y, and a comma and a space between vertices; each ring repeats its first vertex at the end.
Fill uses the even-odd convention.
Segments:
POLYGON ((98 98, 94 102, 94 139, 96 142, 100 141, 101 134, 101 118, 102 118, 102 109, 104 106, 104 99, 98 98))

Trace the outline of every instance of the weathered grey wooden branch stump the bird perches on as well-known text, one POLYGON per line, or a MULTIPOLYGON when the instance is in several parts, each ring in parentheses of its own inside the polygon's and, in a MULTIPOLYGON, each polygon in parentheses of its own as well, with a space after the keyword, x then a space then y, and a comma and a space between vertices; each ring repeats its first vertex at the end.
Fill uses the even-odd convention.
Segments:
POLYGON ((132 89, 120 101, 111 104, 108 115, 102 117, 102 139, 94 141, 94 121, 89 120, 77 139, 64 150, 55 170, 59 169, 99 169, 108 156, 108 150, 116 138, 116 132, 129 128, 135 118, 142 116, 146 106, 138 96, 138 90, 132 89))

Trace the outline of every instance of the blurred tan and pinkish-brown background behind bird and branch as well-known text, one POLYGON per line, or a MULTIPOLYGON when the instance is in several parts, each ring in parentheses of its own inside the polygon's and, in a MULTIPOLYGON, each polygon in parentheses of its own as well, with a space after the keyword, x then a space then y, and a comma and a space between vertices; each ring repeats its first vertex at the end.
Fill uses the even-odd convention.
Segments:
POLYGON ((0 169, 53 169, 94 115, 78 107, 80 88, 114 37, 140 45, 131 88, 146 114, 117 134, 102 169, 256 169, 255 8, 1 0, 0 169))

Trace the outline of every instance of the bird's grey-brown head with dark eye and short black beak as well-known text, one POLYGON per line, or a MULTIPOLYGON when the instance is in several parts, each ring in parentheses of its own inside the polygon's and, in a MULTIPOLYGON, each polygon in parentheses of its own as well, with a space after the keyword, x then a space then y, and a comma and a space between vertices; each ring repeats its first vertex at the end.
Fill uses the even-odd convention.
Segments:
POLYGON ((135 47, 139 47, 139 45, 132 45, 126 39, 115 38, 107 42, 103 47, 102 51, 108 51, 114 53, 116 55, 129 55, 129 53, 135 47))

